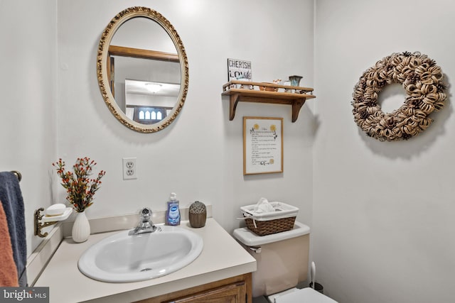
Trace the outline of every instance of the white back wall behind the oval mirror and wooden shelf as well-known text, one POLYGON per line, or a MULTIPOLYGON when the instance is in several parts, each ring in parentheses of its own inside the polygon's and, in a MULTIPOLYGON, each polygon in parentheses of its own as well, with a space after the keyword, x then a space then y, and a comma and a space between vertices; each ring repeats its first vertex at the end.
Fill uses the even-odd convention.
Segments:
MULTIPOLYGON (((107 171, 89 219, 136 213, 142 206, 163 210, 170 192, 182 206, 213 204, 215 219, 228 231, 240 224, 239 207, 260 197, 301 208, 310 223, 314 117, 291 107, 242 103, 228 119, 228 57, 250 60, 256 81, 302 75, 313 84, 313 1, 58 1, 58 157, 97 160, 107 171), (159 133, 124 127, 105 105, 96 78, 100 34, 119 11, 148 6, 176 28, 186 48, 190 84, 178 119, 159 133), (284 173, 242 175, 242 116, 284 118, 284 173), (122 180, 122 158, 137 157, 137 180, 122 180)), ((48 161, 50 169, 50 161, 48 161)), ((58 180, 55 180, 57 183, 58 180)), ((62 202, 58 188, 55 202, 62 202)))

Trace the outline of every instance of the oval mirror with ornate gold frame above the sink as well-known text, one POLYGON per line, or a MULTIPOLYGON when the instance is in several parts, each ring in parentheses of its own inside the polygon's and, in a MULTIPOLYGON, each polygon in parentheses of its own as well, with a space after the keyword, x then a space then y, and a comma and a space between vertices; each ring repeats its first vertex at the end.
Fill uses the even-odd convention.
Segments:
POLYGON ((134 6, 114 16, 97 54, 100 91, 114 116, 134 131, 154 133, 171 124, 188 92, 188 58, 172 24, 134 6))

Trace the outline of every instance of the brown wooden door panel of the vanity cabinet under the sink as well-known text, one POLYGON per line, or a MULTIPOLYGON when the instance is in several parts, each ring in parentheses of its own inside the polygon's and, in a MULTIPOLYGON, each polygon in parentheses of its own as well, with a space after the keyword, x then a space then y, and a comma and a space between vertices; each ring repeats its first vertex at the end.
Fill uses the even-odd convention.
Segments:
POLYGON ((168 301, 169 303, 244 303, 246 302, 245 282, 237 282, 198 294, 191 294, 168 301))

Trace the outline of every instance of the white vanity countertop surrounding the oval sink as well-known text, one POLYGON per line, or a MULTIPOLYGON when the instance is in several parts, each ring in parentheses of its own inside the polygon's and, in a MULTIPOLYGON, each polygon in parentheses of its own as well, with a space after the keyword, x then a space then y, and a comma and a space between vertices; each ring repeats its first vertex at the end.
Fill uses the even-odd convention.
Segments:
POLYGON ((77 269, 80 255, 102 238, 118 231, 91 235, 84 243, 63 239, 48 266, 36 281, 36 287, 49 287, 50 303, 134 302, 176 292, 188 287, 223 280, 256 270, 256 260, 247 253, 214 219, 203 228, 191 228, 188 221, 181 227, 202 236, 204 248, 190 265, 169 275, 141 282, 107 283, 92 280, 77 269))

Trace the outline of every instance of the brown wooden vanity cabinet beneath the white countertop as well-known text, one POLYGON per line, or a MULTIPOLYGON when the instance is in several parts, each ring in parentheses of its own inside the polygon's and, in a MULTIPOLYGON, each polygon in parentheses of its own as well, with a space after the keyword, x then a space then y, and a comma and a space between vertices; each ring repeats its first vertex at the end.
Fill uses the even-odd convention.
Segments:
POLYGON ((135 303, 252 303, 251 279, 250 272, 135 303))

